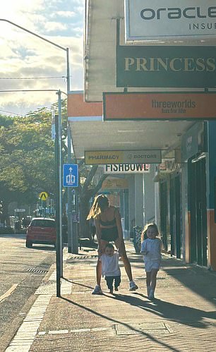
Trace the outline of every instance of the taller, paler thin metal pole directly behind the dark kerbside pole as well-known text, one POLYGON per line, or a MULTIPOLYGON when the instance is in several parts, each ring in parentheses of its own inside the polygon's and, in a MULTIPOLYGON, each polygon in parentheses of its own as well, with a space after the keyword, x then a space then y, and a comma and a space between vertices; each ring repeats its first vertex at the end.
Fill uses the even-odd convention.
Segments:
POLYGON ((61 131, 62 131, 62 126, 61 126, 61 90, 57 92, 57 95, 59 96, 59 245, 60 245, 60 253, 59 253, 59 259, 60 259, 60 272, 61 272, 61 277, 63 277, 63 245, 62 245, 62 157, 61 157, 61 131))

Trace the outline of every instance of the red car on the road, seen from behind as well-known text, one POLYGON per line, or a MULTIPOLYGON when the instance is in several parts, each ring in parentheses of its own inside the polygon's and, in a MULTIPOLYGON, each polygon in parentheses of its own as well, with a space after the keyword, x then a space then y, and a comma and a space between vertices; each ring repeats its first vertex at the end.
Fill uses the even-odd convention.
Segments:
POLYGON ((54 219, 36 217, 30 222, 26 232, 26 247, 33 243, 56 246, 56 221, 54 219))

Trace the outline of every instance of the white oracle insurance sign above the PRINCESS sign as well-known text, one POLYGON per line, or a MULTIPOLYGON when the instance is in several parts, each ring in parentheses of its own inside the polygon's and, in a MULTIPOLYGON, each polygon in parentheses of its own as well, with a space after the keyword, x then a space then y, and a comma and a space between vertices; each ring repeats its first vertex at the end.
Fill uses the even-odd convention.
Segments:
POLYGON ((126 42, 216 37, 215 0, 125 0, 126 42))

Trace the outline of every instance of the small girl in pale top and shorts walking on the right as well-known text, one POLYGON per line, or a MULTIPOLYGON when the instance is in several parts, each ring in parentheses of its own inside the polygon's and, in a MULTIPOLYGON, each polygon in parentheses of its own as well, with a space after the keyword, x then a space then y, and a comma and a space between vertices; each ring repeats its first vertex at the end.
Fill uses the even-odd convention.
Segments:
POLYGON ((156 224, 149 224, 143 230, 141 236, 141 251, 144 255, 146 286, 148 298, 155 298, 155 286, 157 280, 157 272, 161 264, 162 241, 158 238, 158 229, 156 224), (146 239, 145 236, 147 236, 146 239))

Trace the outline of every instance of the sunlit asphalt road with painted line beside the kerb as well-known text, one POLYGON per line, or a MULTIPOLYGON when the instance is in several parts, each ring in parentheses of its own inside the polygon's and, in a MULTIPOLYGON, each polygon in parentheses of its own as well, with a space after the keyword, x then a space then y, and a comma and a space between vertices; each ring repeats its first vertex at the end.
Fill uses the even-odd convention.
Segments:
POLYGON ((56 259, 53 246, 25 247, 25 235, 0 235, 0 351, 35 301, 34 293, 56 259))

